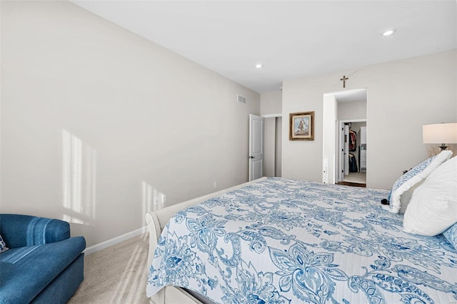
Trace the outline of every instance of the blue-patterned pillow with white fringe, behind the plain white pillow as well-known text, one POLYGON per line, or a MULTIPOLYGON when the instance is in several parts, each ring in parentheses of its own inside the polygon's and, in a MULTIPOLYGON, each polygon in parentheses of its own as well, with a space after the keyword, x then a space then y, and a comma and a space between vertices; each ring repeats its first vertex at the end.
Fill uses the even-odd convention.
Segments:
POLYGON ((428 174, 431 174, 434 169, 436 169, 443 162, 446 162, 446 160, 450 159, 451 156, 452 151, 441 151, 439 154, 424 160, 398 178, 393 184, 391 192, 388 196, 390 211, 393 213, 403 214, 411 201, 414 189, 418 187, 418 183, 428 177, 428 174))

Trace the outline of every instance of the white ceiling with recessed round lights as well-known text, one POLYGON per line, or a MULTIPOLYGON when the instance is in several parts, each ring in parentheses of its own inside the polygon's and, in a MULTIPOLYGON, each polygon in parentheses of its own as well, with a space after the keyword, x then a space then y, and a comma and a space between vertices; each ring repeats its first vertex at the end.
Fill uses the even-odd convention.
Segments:
POLYGON ((70 1, 258 93, 457 48, 456 0, 70 1))

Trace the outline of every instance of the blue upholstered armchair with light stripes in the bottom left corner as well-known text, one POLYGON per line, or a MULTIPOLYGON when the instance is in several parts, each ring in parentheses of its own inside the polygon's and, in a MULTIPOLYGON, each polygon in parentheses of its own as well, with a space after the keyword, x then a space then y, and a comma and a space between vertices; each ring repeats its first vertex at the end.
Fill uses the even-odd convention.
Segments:
POLYGON ((66 303, 84 280, 82 236, 58 219, 0 214, 0 303, 66 303))

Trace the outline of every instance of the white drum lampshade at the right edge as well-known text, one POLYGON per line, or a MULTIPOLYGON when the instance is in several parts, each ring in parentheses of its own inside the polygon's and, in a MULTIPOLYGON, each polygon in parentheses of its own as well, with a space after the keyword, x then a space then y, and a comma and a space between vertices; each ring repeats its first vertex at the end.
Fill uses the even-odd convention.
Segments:
POLYGON ((456 144, 457 122, 422 126, 424 144, 456 144))

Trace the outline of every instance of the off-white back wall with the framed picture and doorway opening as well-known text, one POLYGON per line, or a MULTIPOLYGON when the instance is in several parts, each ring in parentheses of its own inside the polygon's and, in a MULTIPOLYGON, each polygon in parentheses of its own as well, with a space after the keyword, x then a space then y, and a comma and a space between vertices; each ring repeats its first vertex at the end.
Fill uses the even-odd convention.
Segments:
POLYGON ((283 177, 321 182, 323 94, 367 88, 367 186, 389 189, 404 169, 428 156, 422 125, 457 122, 457 50, 283 81, 283 117, 315 111, 314 141, 288 141, 283 120, 283 177), (393 151, 395 151, 393 153, 393 151), (299 157, 297 157, 299 156, 299 157))

